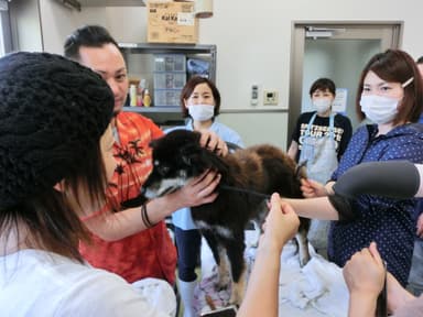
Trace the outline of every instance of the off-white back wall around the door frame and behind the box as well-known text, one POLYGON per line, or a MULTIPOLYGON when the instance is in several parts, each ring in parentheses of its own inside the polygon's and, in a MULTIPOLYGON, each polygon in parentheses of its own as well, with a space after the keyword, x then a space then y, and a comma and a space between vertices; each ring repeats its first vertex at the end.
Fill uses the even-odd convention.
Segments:
MULTIPOLYGON (((246 144, 271 142, 285 147, 283 109, 289 107, 293 22, 404 21, 402 48, 417 57, 423 54, 421 6, 421 0, 214 0, 214 17, 199 23, 199 43, 217 45, 217 86, 224 96, 220 121, 234 125, 246 144), (263 107, 250 106, 252 84, 279 91, 279 106, 270 108, 274 112, 251 112, 263 107)), ((48 52, 61 53, 65 35, 83 23, 105 25, 118 41, 145 41, 145 8, 83 8, 78 13, 41 0, 41 13, 48 52)))

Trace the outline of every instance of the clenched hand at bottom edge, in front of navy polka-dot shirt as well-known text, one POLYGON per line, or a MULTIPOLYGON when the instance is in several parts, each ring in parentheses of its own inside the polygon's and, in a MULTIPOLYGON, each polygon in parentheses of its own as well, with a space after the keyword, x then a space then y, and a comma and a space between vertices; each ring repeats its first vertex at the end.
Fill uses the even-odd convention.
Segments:
POLYGON ((349 317, 375 317, 386 269, 376 243, 356 252, 343 269, 349 291, 349 317))

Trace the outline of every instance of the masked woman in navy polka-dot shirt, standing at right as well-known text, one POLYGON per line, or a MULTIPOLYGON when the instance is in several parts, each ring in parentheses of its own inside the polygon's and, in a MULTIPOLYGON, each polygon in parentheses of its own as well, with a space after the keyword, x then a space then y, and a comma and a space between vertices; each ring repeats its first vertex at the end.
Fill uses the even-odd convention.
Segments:
MULTIPOLYGON (((405 160, 423 162, 423 133, 415 124, 423 109, 423 83, 414 61, 399 50, 375 55, 361 73, 356 101, 358 117, 373 121, 352 135, 332 182, 325 186, 304 181, 305 197, 326 196, 338 177, 364 162, 405 160)), ((391 179, 395 182, 395 179, 391 179)), ((359 195, 350 201, 350 212, 322 208, 315 199, 291 200, 300 216, 333 221, 328 238, 329 260, 344 266, 371 241, 378 244, 388 271, 406 284, 414 245, 414 199, 359 195)))

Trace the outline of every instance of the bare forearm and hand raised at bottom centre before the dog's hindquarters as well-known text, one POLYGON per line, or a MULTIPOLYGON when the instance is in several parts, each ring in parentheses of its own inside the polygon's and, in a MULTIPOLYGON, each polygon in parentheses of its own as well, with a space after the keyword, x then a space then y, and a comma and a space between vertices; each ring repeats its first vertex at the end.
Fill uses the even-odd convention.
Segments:
POLYGON ((281 252, 299 226, 300 219, 294 210, 281 201, 278 194, 273 194, 264 233, 260 238, 254 266, 237 316, 278 316, 281 252))

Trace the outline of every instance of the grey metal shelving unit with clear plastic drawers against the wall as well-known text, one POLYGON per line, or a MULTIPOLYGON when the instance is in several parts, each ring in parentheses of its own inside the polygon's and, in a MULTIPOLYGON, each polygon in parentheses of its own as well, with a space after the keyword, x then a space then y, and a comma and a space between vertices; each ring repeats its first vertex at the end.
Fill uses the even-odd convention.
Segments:
POLYGON ((186 79, 188 79, 193 68, 189 69, 186 65, 183 65, 183 69, 180 67, 173 69, 174 65, 165 67, 167 64, 158 63, 161 61, 159 59, 161 56, 172 57, 183 54, 188 66, 195 65, 193 64, 195 61, 203 61, 208 66, 208 78, 216 81, 216 45, 119 43, 119 46, 127 62, 130 81, 137 83, 137 80, 144 79, 153 100, 152 107, 124 107, 123 110, 141 112, 160 125, 183 123, 178 105, 180 90, 176 88, 182 88, 183 85, 180 84, 182 77, 186 75, 186 79), (192 63, 189 64, 189 62, 192 63), (163 98, 165 98, 164 101, 163 98))

